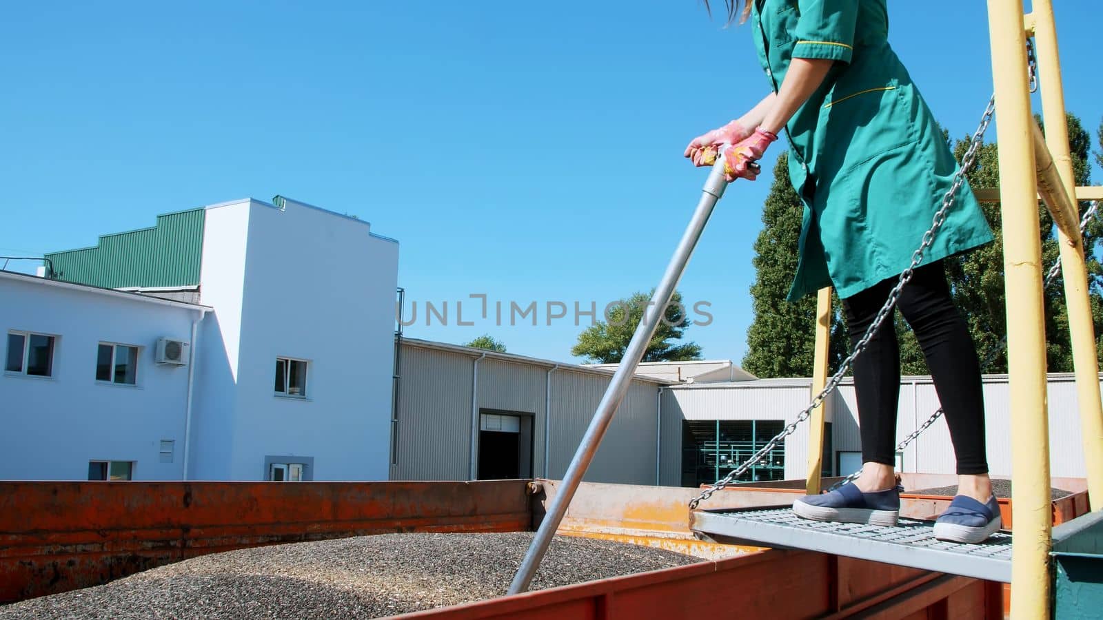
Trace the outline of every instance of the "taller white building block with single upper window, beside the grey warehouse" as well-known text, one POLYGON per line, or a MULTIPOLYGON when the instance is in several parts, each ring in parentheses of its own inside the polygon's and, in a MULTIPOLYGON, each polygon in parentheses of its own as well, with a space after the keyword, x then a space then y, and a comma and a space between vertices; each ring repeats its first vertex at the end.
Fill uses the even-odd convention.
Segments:
POLYGON ((225 348, 203 360, 194 477, 261 480, 290 455, 313 480, 386 480, 398 244, 288 200, 210 207, 203 245, 204 335, 225 348), (310 361, 306 399, 275 395, 278 356, 310 361))

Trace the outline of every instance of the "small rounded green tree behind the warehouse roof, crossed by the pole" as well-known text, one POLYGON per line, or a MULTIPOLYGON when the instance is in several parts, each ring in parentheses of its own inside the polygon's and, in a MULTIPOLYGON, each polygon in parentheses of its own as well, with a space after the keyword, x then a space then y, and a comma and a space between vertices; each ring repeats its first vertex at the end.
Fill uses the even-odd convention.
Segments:
MULTIPOLYGON (((654 291, 652 291, 653 293, 654 291)), ((570 349, 571 355, 585 357, 591 363, 613 364, 621 361, 628 344, 643 318, 643 310, 651 301, 651 293, 635 292, 617 303, 607 312, 608 321, 598 321, 578 335, 578 342, 570 349)), ((682 362, 700 360, 700 345, 695 342, 675 344, 682 340, 692 324, 682 293, 676 292, 658 321, 655 335, 647 343, 644 362, 682 362)))

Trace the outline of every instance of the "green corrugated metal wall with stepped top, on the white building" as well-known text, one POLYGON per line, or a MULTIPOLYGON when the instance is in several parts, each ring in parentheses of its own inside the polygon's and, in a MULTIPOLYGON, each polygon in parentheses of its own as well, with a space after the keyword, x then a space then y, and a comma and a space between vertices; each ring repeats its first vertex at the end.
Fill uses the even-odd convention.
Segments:
POLYGON ((96 247, 46 254, 62 280, 104 288, 200 284, 205 211, 157 216, 157 225, 99 237, 96 247))

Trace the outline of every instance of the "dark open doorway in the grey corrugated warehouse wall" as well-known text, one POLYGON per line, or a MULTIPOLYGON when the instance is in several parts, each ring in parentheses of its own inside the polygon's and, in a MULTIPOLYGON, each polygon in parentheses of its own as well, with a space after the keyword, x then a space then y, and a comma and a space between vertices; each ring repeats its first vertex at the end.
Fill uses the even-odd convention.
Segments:
POLYGON ((533 477, 533 415, 483 409, 479 420, 479 480, 533 477))

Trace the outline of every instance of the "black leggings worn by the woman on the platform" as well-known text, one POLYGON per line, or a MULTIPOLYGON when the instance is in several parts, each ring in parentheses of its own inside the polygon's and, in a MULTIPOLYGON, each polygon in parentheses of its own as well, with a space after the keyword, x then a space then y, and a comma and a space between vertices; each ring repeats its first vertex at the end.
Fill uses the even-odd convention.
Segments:
MULTIPOLYGON (((898 279, 882 280, 843 300, 852 348, 866 333, 898 279)), ((900 292, 897 308, 915 332, 934 378, 957 456, 957 473, 987 473, 981 364, 965 320, 950 297, 941 260, 915 269, 900 292)), ((854 389, 861 425, 863 461, 895 464, 900 345, 891 317, 881 323, 855 360, 854 389)))

